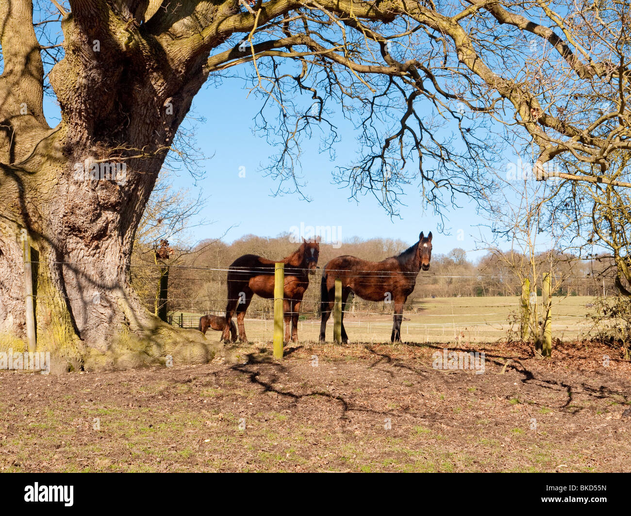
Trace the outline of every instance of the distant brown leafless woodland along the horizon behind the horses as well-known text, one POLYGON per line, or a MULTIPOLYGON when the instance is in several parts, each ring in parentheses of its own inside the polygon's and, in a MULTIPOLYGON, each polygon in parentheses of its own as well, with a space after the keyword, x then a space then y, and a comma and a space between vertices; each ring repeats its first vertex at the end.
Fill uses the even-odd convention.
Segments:
MULTIPOLYGON (((436 240, 436 239, 435 239, 436 240)), ((407 249, 409 243, 389 238, 370 240, 352 240, 341 243, 334 249, 332 245, 320 246, 319 267, 339 255, 355 255, 370 261, 380 261, 397 255, 407 249)), ((281 259, 297 249, 298 244, 290 241, 290 235, 276 238, 261 238, 247 235, 229 244, 221 240, 200 242, 192 252, 170 264, 168 271, 168 311, 173 312, 216 312, 220 314, 226 306, 226 269, 237 257, 243 254, 257 254, 269 259, 281 259), (217 269, 217 270, 215 270, 217 269)), ((529 257, 516 253, 498 253, 489 251, 476 262, 466 259, 463 249, 439 252, 435 241, 430 270, 421 271, 416 281, 416 288, 408 298, 406 310, 413 310, 413 305, 423 298, 453 296, 517 296, 521 293, 521 278, 528 273, 529 257)), ((147 249, 144 253, 147 254, 147 249)), ((537 255, 539 271, 550 269, 550 253, 537 255), (544 264, 548 264, 544 266, 544 264)), ((606 271, 608 261, 597 259, 579 260, 572 255, 555 254, 553 257, 553 277, 555 295, 597 296, 603 293, 603 279, 599 274, 606 271)), ((139 257, 139 250, 132 262, 132 281, 139 291, 143 302, 153 311, 156 287, 160 272, 158 266, 139 257)), ((312 283, 305 294, 301 312, 307 316, 317 314, 320 295, 321 276, 312 276, 312 283)), ((536 288, 540 290, 540 280, 536 288)), ((534 290, 534 288, 532 289, 534 290)), ((612 279, 604 280, 604 290, 611 294, 615 290, 612 279)), ((389 313, 392 308, 385 303, 365 302, 355 298, 346 310, 358 314, 362 312, 389 313)), ((248 314, 250 317, 271 316, 272 303, 254 297, 248 314)))

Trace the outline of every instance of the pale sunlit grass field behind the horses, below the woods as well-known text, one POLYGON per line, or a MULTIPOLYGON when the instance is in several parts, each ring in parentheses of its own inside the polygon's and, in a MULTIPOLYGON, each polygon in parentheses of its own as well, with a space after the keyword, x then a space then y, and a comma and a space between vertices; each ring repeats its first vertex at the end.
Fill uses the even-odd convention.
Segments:
MULTIPOLYGON (((403 312, 403 341, 426 342, 493 342, 515 337, 519 332, 518 297, 461 297, 424 299, 414 310, 403 312)), ((541 305, 541 296, 538 303, 541 305)), ((389 341, 392 312, 379 312, 383 305, 375 303, 372 314, 347 312, 344 325, 350 342, 380 343, 389 341)), ((594 298, 590 296, 555 297, 552 305, 552 337, 562 341, 589 335, 593 329, 591 315, 596 314, 594 298)), ((197 325, 201 314, 184 313, 184 324, 197 325)), ((174 314, 174 324, 179 312, 174 314)), ((320 320, 307 315, 298 323, 301 341, 319 337, 320 320)), ((245 332, 251 341, 269 341, 273 337, 273 320, 245 319, 245 332)), ((218 332, 209 331, 209 339, 218 332)), ((333 317, 326 329, 327 341, 333 339, 333 317)))

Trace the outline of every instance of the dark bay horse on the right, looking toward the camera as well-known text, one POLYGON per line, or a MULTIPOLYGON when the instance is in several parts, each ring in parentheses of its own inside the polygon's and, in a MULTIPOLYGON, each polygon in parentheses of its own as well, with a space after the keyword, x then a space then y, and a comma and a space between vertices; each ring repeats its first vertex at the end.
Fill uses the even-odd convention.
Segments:
POLYGON ((321 302, 322 322, 320 340, 324 341, 326 321, 335 302, 335 280, 342 280, 342 342, 348 343, 344 328, 344 307, 348 295, 353 292, 369 301, 394 303, 394 324, 391 341, 401 340, 403 305, 414 290, 420 269, 427 271, 432 259, 432 232, 418 236, 410 249, 398 256, 380 262, 368 262, 354 256, 338 256, 324 266, 322 274, 321 302))

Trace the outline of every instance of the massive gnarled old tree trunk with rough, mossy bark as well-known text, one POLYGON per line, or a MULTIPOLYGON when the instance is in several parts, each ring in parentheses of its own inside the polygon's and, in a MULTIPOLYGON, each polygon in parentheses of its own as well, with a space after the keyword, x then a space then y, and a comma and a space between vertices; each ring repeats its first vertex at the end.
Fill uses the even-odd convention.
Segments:
POLYGON ((168 62, 160 69, 159 45, 130 43, 136 27, 117 26, 120 16, 104 6, 77 2, 63 22, 66 56, 50 76, 62 110, 56 129, 42 111, 30 0, 0 8, 0 349, 26 349, 26 229, 39 260, 37 351, 50 351, 54 369, 126 368, 167 355, 206 361, 215 348, 150 314, 129 281, 134 232, 205 74, 201 62, 187 74, 168 62), (118 163, 119 176, 108 176, 104 163, 118 163), (105 179, 85 177, 90 167, 103 168, 105 179))

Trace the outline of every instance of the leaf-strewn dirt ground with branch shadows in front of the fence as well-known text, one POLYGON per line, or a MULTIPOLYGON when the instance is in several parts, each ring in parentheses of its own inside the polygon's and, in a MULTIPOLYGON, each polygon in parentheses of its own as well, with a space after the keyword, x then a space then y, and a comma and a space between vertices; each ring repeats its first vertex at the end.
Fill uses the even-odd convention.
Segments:
POLYGON ((631 471, 631 365, 612 349, 288 346, 243 363, 0 372, 1 471, 631 471), (610 356, 604 366, 603 355, 610 356), (507 360, 511 359, 507 364, 507 360))

